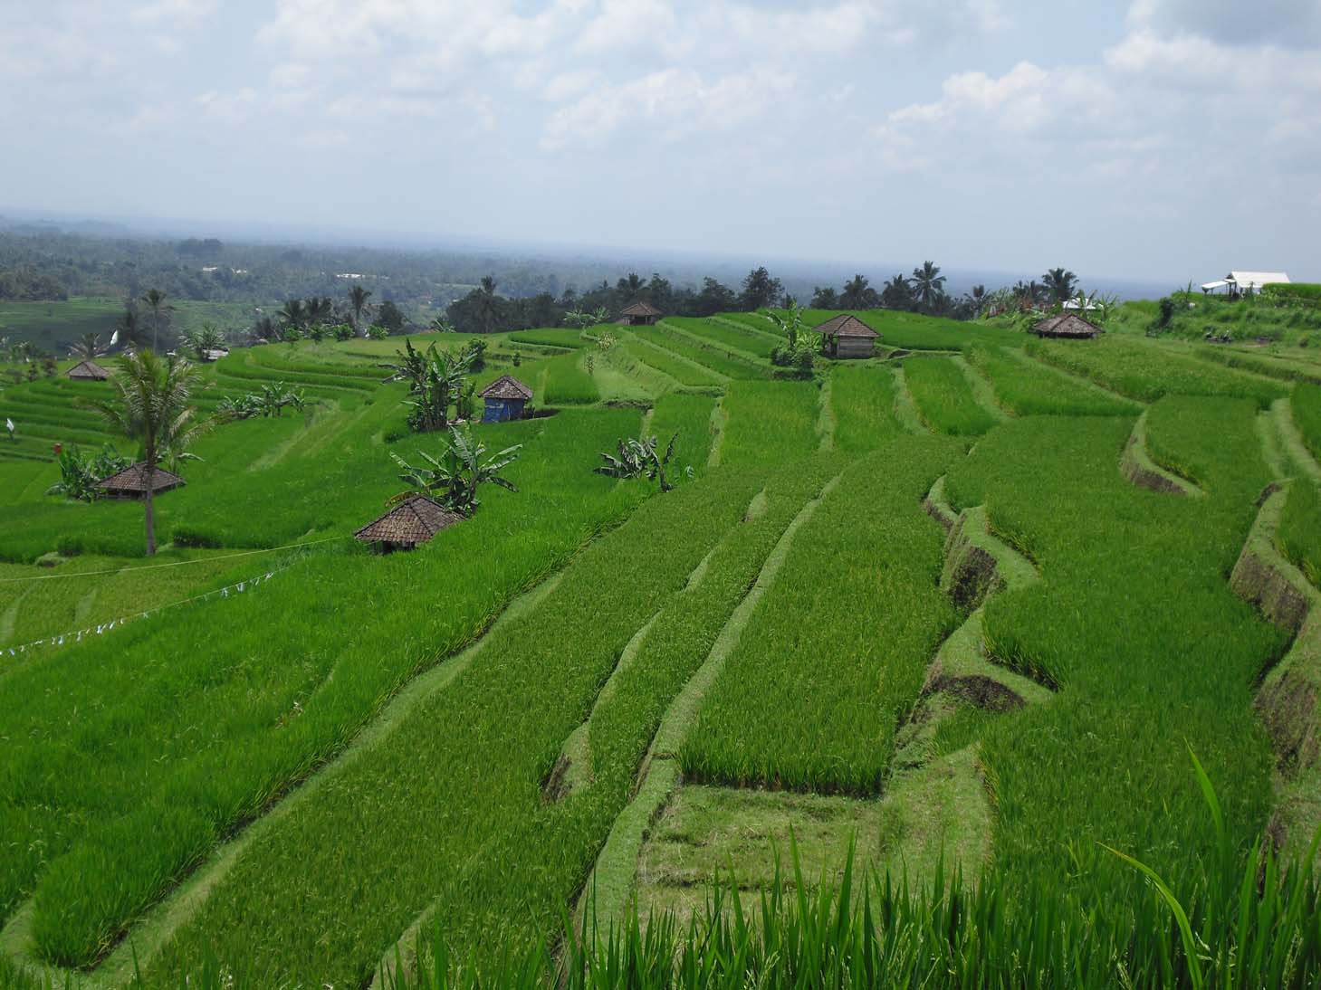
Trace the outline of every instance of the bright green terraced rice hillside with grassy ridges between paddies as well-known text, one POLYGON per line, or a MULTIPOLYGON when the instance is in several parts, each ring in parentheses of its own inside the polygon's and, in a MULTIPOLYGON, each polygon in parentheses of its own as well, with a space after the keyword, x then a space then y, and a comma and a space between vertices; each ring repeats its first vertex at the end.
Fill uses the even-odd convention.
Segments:
POLYGON ((806 380, 758 314, 486 338, 557 412, 388 556, 398 339, 207 366, 313 401, 149 561, 44 494, 102 387, 0 392, 0 983, 1314 985, 1321 388, 861 315, 806 380))

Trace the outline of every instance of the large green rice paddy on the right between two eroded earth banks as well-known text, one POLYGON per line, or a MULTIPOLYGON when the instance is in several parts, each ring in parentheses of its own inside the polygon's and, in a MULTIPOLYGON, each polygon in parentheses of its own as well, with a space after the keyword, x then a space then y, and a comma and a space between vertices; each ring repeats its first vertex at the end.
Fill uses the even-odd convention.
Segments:
POLYGON ((1148 895, 1100 843, 1176 887, 1213 857, 1188 746, 1222 789, 1234 847, 1264 828, 1271 754, 1252 685, 1284 647, 1225 579, 1266 483, 1254 405, 1166 399, 1147 426, 1152 455, 1206 498, 1125 482, 1116 459, 1132 424, 1119 417, 1012 422, 947 477, 951 500, 985 504, 1042 574, 987 605, 992 656, 1061 688, 983 734, 996 883, 1124 906, 1104 919, 1120 935, 1148 895))

